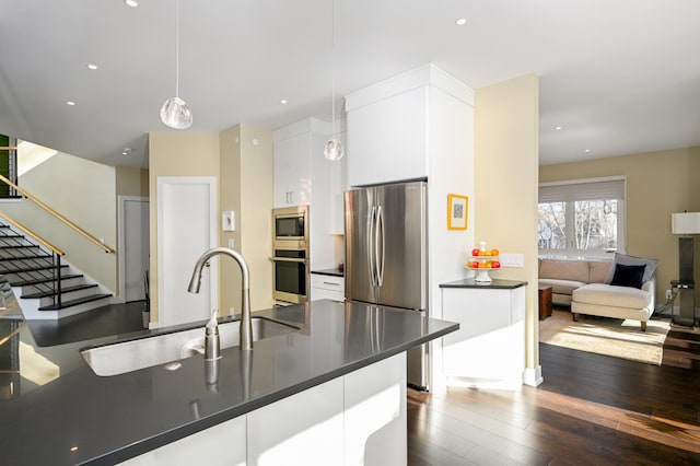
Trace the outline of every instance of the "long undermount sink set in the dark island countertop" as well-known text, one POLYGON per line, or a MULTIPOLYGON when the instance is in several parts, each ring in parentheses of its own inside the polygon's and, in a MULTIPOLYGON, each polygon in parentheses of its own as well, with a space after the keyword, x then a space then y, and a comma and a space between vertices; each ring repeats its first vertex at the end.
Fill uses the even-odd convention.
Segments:
MULTIPOLYGON (((240 345, 240 321, 219 324, 221 349, 240 345)), ((267 317, 253 317, 253 340, 299 331, 300 328, 267 317)), ((101 376, 118 375, 138 369, 190 358, 203 351, 205 327, 84 348, 88 365, 101 376)))

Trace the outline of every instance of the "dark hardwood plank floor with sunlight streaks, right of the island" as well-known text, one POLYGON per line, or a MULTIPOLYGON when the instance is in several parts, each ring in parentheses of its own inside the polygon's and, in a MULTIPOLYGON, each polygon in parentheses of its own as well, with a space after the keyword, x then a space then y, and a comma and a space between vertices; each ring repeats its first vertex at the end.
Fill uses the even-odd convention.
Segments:
POLYGON ((700 372, 544 343, 540 363, 537 388, 409 391, 409 464, 700 465, 700 372))

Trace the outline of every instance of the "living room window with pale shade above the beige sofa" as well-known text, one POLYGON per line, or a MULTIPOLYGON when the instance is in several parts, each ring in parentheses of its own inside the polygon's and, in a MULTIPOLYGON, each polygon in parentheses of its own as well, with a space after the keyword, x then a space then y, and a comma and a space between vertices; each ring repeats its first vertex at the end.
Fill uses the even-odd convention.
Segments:
POLYGON ((625 178, 540 184, 537 213, 541 256, 625 252, 625 178))

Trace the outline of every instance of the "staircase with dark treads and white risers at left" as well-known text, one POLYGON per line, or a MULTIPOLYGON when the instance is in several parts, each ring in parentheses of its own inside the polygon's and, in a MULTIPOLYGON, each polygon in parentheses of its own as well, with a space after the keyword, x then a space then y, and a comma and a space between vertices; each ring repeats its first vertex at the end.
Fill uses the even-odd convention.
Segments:
POLYGON ((12 287, 26 319, 59 319, 110 302, 112 293, 63 264, 60 255, 2 222, 0 276, 12 287))

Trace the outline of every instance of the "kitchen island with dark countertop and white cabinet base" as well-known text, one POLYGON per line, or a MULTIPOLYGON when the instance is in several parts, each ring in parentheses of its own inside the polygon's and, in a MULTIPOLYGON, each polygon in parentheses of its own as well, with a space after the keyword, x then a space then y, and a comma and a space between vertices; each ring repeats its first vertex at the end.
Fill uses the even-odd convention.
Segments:
POLYGON ((0 316, 0 340, 8 337, 0 345, 0 455, 8 465, 187 464, 188 454, 195 464, 293 464, 314 453, 308 442, 348 461, 389 448, 392 423, 405 447, 405 398, 386 419, 368 413, 404 396, 408 349, 458 328, 420 313, 323 300, 254 313, 300 329, 257 340, 249 352, 223 349, 214 377, 201 356, 176 370, 97 376, 79 350, 125 336, 39 347, 12 306, 0 316), (373 386, 382 377, 393 383, 373 386))

